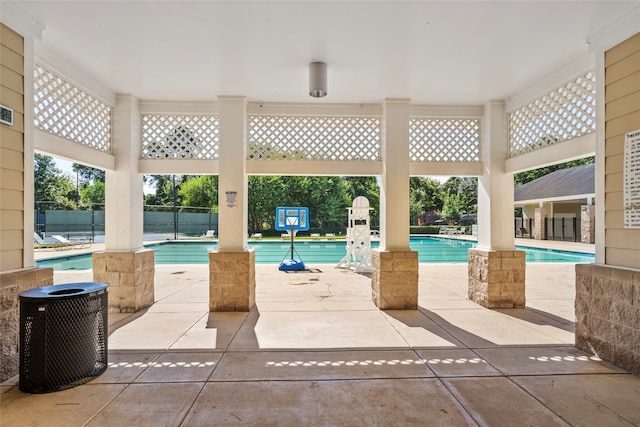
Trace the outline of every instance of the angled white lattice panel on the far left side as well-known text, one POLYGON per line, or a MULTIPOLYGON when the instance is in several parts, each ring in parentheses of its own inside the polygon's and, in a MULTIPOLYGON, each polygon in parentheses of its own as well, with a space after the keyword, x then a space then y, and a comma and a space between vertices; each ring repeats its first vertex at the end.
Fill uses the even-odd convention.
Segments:
POLYGON ((111 107, 36 64, 34 125, 99 151, 111 152, 111 107))

